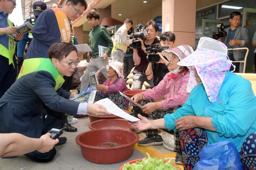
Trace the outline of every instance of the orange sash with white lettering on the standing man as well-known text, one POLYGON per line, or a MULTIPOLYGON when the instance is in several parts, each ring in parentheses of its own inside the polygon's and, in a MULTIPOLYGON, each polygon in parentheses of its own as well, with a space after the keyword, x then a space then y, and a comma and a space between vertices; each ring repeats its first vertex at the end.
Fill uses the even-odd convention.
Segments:
POLYGON ((68 18, 66 16, 66 14, 64 13, 64 11, 61 8, 49 8, 49 9, 52 9, 55 13, 55 16, 56 16, 56 19, 58 21, 58 25, 60 28, 60 34, 62 37, 62 41, 69 43, 69 40, 71 37, 71 29, 70 29, 70 25, 69 25, 68 18))

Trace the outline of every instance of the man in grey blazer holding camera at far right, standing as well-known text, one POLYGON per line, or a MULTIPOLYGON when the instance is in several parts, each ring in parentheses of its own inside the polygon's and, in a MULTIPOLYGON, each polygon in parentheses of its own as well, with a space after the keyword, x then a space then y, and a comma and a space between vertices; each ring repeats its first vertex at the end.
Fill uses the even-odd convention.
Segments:
MULTIPOLYGON (((244 45, 247 45, 249 42, 248 31, 246 28, 239 26, 241 21, 241 13, 233 12, 230 14, 229 22, 230 27, 225 28, 224 31, 227 32, 227 36, 222 34, 222 37, 217 40, 223 42, 228 49, 229 48, 241 48, 244 45)), ((218 32, 216 33, 216 35, 218 32)), ((231 61, 244 61, 244 50, 229 50, 228 57, 231 61)), ((240 63, 233 63, 235 65, 236 73, 239 72, 240 63)), ((233 71, 234 67, 231 65, 230 71, 233 71)))

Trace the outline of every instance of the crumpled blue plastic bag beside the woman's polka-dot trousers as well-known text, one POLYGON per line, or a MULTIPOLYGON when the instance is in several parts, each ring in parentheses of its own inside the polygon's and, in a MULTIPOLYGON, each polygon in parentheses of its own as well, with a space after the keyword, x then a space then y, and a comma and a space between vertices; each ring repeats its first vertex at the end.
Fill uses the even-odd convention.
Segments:
POLYGON ((240 155, 232 142, 204 146, 198 156, 200 161, 193 170, 244 170, 240 155))

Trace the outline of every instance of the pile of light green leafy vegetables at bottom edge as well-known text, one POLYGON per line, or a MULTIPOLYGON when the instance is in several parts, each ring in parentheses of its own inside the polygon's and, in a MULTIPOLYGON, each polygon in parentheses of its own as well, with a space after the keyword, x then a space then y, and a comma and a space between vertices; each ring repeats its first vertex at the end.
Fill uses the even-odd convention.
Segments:
POLYGON ((144 157, 142 161, 137 161, 132 164, 124 164, 122 170, 178 170, 177 167, 173 166, 171 160, 175 158, 164 158, 164 159, 157 159, 156 157, 151 158, 147 153, 148 158, 144 157), (163 163, 164 160, 168 160, 168 162, 163 163))

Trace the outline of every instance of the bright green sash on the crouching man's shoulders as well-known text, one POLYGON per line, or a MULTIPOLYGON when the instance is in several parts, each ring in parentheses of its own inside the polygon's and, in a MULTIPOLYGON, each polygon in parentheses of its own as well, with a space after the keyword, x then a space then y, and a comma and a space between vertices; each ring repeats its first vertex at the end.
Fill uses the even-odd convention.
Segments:
POLYGON ((48 71, 52 74, 56 85, 54 89, 57 91, 62 84, 65 82, 63 77, 60 75, 59 71, 53 66, 52 60, 49 58, 30 58, 25 59, 18 76, 18 79, 22 76, 25 76, 29 73, 35 72, 35 71, 48 71))

